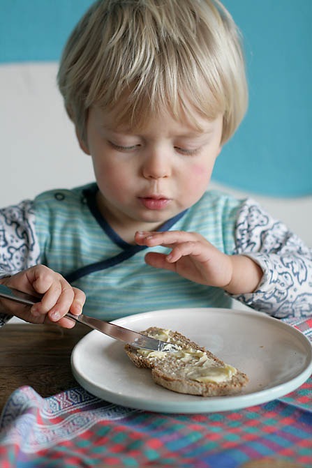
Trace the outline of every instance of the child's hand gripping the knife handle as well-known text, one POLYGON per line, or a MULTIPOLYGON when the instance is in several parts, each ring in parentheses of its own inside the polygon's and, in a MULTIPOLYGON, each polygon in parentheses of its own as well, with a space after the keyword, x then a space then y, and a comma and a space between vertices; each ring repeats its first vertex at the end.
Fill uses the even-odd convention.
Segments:
POLYGON ((59 273, 44 265, 31 268, 0 279, 2 285, 38 296, 38 303, 29 307, 1 299, 1 311, 15 315, 34 324, 57 323, 67 329, 75 326, 73 320, 64 317, 68 311, 80 315, 86 300, 84 292, 70 286, 59 273))

